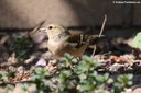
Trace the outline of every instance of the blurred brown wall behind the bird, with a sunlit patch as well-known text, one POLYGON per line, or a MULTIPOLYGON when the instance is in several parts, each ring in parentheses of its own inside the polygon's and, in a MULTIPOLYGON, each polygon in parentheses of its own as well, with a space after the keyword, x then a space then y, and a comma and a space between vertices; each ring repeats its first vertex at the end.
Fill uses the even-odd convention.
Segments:
POLYGON ((0 31, 28 30, 46 21, 70 28, 93 26, 98 33, 107 14, 107 35, 133 36, 140 30, 140 10, 141 3, 113 0, 1 0, 0 31))

